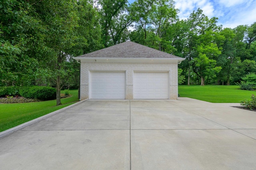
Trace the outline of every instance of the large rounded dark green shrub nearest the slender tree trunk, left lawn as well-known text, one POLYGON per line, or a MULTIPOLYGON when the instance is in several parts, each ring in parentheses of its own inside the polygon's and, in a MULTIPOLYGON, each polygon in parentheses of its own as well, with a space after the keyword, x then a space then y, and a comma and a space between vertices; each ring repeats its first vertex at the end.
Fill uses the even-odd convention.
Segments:
POLYGON ((39 99, 39 100, 54 100, 56 99, 56 89, 46 86, 26 86, 20 89, 20 94, 24 98, 39 99))

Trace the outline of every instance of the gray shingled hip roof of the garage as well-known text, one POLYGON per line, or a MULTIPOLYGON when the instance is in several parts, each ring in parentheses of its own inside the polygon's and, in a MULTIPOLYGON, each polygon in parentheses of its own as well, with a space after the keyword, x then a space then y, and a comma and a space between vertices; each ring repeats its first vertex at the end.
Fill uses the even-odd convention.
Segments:
POLYGON ((80 55, 78 57, 114 57, 114 58, 173 58, 180 59, 175 55, 164 53, 162 51, 126 41, 118 45, 107 47, 92 53, 80 55))

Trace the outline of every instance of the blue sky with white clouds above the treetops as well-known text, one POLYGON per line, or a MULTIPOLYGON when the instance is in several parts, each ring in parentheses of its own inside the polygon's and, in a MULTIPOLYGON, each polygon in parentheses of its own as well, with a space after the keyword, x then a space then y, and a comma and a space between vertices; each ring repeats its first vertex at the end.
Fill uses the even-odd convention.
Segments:
MULTIPOLYGON (((217 17, 217 25, 234 28, 256 22, 256 0, 174 0, 180 10, 180 20, 186 20, 193 10, 203 10, 208 18, 217 17)), ((129 3, 134 0, 128 0, 129 3)))

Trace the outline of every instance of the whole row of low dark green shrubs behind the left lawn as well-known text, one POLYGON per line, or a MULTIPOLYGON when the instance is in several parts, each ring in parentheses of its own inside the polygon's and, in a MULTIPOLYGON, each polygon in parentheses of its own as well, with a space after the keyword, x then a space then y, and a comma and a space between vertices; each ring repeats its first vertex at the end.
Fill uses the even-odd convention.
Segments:
POLYGON ((23 96, 24 98, 39 100, 56 99, 56 89, 46 86, 7 86, 0 88, 0 96, 23 96))

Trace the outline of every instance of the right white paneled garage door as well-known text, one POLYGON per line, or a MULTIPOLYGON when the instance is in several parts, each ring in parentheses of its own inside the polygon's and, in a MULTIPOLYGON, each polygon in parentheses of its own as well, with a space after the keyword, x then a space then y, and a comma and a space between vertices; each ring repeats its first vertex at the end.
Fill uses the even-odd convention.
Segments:
POLYGON ((134 99, 169 99, 169 72, 134 72, 134 99))

